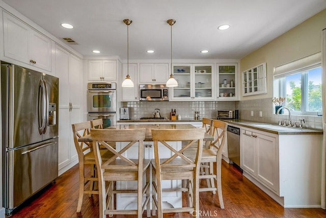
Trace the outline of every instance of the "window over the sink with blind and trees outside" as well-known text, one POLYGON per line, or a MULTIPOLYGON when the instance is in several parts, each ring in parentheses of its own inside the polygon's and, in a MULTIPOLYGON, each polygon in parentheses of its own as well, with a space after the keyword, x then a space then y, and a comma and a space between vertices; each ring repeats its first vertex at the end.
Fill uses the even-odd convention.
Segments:
POLYGON ((316 56, 318 54, 320 53, 274 69, 274 96, 286 97, 285 106, 289 108, 291 113, 321 114, 322 72, 320 56, 316 56))

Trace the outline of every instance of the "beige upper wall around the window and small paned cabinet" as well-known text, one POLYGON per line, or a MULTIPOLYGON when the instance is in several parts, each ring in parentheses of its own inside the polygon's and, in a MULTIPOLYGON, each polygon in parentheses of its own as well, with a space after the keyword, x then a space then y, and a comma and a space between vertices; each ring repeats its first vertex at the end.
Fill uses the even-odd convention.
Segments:
MULTIPOLYGON (((321 50, 321 30, 325 28, 326 10, 323 10, 241 59, 240 74, 242 71, 266 62, 267 94, 245 96, 241 97, 240 100, 274 97, 274 67, 319 52, 321 50)), ((239 75, 239 78, 241 78, 241 75, 239 75)), ((242 87, 240 87, 240 92, 241 90, 242 87)), ((240 96, 242 95, 240 94, 240 96)))

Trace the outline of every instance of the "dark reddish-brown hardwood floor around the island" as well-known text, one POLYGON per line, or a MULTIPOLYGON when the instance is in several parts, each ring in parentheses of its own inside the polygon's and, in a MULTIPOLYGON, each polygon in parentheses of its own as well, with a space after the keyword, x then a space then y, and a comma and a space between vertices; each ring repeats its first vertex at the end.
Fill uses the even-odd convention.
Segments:
MULTIPOLYGON (((222 161, 222 192, 225 209, 211 192, 200 193, 199 217, 326 217, 320 208, 283 208, 255 186, 232 165, 222 161)), ((205 181, 203 181, 205 183, 205 181)), ((76 213, 78 166, 61 175, 39 194, 14 210, 16 217, 98 217, 98 196, 84 196, 82 212, 76 213)), ((108 217, 108 216, 107 216, 108 217)), ((137 217, 116 215, 114 217, 137 217)), ((192 217, 189 213, 169 213, 164 217, 192 217)))

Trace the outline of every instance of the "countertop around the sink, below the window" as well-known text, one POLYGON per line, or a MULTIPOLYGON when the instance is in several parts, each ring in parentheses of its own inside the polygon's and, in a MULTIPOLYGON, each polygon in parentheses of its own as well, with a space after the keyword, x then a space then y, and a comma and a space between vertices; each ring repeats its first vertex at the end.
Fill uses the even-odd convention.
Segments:
POLYGON ((230 126, 234 124, 236 126, 247 127, 247 128, 275 133, 275 134, 322 134, 323 133, 323 131, 320 129, 288 127, 288 126, 281 126, 278 124, 262 123, 262 122, 251 121, 251 120, 223 120, 223 121, 228 122, 230 126))

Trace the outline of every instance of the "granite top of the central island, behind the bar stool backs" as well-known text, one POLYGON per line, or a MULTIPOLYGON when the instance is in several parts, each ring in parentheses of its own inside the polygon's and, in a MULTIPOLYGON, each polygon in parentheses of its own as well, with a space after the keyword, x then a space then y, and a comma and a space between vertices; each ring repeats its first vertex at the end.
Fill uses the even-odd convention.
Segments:
MULTIPOLYGON (((193 129, 196 128, 191 124, 121 124, 107 127, 108 129, 139 129, 145 128, 145 141, 150 142, 152 139, 152 131, 151 129, 193 129)), ((212 135, 205 132, 204 141, 213 141, 214 137, 212 135)), ((85 137, 81 137, 78 139, 79 142, 91 142, 91 135, 86 135, 85 137)))

